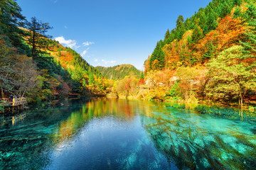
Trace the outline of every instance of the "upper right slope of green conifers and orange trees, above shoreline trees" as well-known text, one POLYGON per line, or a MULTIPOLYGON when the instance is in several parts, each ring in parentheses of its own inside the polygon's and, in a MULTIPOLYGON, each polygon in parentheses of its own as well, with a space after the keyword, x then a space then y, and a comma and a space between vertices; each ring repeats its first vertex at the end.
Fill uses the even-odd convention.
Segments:
POLYGON ((252 0, 213 0, 190 18, 178 16, 146 60, 146 72, 204 64, 233 45, 253 52, 255 12, 252 0))

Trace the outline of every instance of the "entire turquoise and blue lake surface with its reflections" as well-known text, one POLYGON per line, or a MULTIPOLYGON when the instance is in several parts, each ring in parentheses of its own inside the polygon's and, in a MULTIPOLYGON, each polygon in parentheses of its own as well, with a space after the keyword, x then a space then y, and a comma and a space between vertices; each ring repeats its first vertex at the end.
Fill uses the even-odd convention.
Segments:
POLYGON ((61 101, 0 115, 0 169, 256 169, 256 113, 61 101))

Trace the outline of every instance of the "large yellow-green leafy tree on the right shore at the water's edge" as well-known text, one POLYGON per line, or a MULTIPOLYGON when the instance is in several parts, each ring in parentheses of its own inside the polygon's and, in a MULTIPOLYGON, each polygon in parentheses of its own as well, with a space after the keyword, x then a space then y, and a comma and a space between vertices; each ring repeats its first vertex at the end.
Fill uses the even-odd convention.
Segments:
POLYGON ((247 92, 256 89, 255 67, 245 62, 243 50, 240 45, 230 47, 207 65, 212 78, 207 95, 228 100, 238 98, 240 108, 247 92))

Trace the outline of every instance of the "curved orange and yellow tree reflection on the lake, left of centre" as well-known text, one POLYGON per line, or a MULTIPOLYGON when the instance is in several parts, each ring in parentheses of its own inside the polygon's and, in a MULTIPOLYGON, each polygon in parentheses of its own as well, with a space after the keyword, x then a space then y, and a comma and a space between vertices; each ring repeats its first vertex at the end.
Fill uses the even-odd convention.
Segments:
POLYGON ((114 116, 121 121, 127 121, 132 120, 134 114, 134 106, 129 105, 127 100, 94 99, 83 105, 79 111, 73 111, 69 118, 60 123, 55 130, 54 141, 60 143, 73 134, 78 134, 78 131, 93 118, 114 116))

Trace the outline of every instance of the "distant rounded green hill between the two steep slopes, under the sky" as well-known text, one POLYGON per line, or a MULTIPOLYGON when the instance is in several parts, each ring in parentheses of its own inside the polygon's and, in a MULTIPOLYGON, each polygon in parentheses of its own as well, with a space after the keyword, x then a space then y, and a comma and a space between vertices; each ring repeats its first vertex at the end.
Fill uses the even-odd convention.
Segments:
POLYGON ((114 67, 97 66, 103 76, 107 79, 124 79, 126 76, 131 76, 139 79, 141 72, 131 64, 121 64, 114 67))

